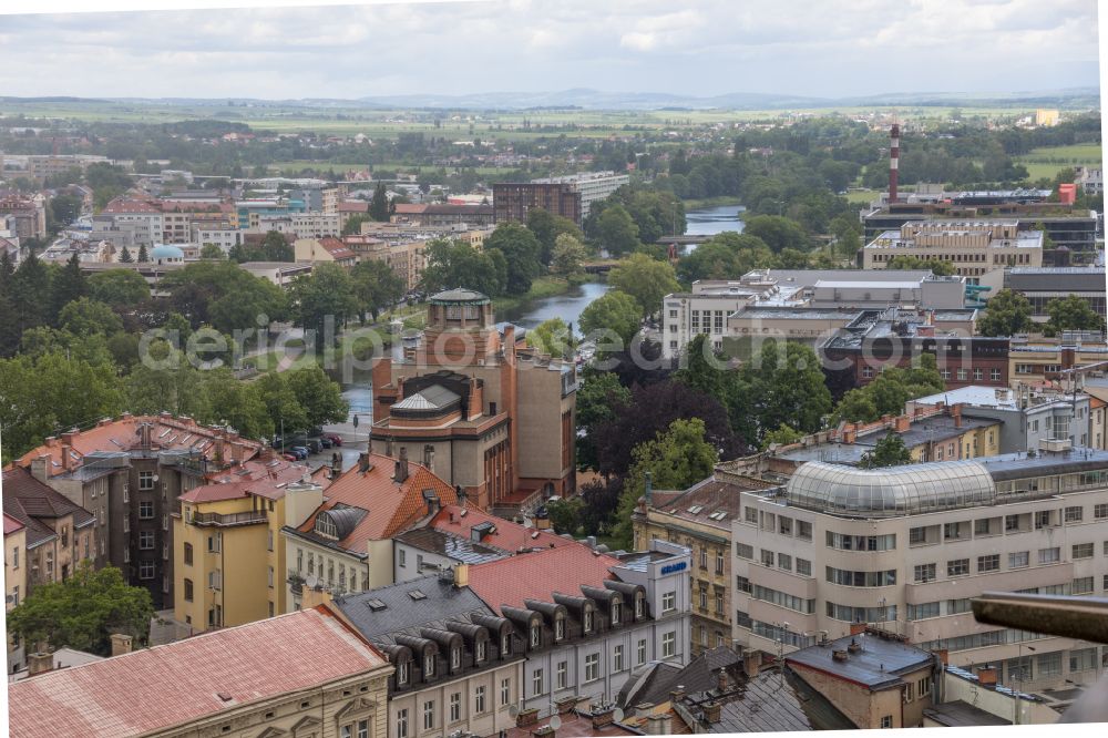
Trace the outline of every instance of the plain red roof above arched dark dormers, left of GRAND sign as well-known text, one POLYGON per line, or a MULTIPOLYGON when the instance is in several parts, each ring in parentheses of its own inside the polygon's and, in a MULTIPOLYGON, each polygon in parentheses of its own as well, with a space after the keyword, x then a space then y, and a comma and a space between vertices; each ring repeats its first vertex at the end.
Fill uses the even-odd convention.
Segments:
POLYGON ((553 602, 555 592, 581 596, 583 584, 603 587, 615 576, 608 571, 619 560, 597 554, 583 543, 519 554, 470 566, 470 588, 486 605, 523 607, 524 599, 553 602))

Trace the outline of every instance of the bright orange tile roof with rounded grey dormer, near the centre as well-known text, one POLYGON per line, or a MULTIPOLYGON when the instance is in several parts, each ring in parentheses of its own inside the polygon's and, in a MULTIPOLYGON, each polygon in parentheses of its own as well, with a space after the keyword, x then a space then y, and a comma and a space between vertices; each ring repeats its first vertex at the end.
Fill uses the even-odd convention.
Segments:
POLYGON ((331 481, 326 501, 314 511, 298 529, 309 533, 316 524, 316 514, 341 503, 368 511, 358 525, 339 541, 348 551, 365 553, 367 541, 390 539, 407 530, 427 514, 423 490, 434 490, 440 504, 458 501, 454 488, 442 481, 427 467, 408 462, 408 479, 402 484, 392 481, 396 460, 378 453, 370 454, 372 468, 362 473, 358 467, 331 481))

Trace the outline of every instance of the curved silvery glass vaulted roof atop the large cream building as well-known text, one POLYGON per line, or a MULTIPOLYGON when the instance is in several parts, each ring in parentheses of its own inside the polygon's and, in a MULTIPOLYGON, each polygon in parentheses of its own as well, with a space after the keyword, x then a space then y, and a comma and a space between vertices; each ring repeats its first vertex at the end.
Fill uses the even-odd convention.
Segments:
POLYGON ((789 504, 830 514, 894 517, 993 502, 995 485, 976 461, 855 469, 809 461, 789 480, 789 504))

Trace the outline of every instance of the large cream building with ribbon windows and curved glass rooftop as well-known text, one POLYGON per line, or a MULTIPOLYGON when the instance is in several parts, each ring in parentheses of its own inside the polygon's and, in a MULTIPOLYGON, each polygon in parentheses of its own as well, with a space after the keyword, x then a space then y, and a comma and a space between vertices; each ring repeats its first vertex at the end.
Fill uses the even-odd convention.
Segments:
POLYGON ((870 624, 951 665, 1001 665, 1004 684, 1094 680, 1096 646, 970 614, 985 591, 1105 593, 1108 453, 1049 448, 873 471, 811 461, 776 490, 743 492, 736 642, 789 654, 870 624))

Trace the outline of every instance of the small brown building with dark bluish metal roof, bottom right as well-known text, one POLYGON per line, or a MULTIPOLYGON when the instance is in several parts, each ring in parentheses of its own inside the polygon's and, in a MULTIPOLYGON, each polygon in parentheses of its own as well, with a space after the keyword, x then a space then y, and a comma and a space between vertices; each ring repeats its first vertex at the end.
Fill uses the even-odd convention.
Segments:
POLYGON ((924 710, 937 701, 938 659, 864 626, 793 652, 784 663, 858 728, 921 727, 924 710))

